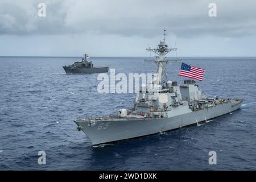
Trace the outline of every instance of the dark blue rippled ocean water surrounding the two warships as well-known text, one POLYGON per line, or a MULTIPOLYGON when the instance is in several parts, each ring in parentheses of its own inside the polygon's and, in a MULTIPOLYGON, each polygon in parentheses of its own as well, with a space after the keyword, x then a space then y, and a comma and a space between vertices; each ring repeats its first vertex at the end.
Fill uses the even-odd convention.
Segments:
MULTIPOLYGON (((143 57, 92 57, 116 73, 151 73, 143 57)), ((66 75, 78 57, 0 57, 1 170, 256 169, 256 57, 184 57, 206 70, 204 94, 244 100, 240 110, 201 126, 92 147, 73 119, 116 114, 134 94, 100 94, 97 73, 66 75), (46 152, 46 165, 38 152, 46 152), (216 151, 217 164, 208 163, 216 151)), ((171 80, 181 63, 167 69, 171 80)))

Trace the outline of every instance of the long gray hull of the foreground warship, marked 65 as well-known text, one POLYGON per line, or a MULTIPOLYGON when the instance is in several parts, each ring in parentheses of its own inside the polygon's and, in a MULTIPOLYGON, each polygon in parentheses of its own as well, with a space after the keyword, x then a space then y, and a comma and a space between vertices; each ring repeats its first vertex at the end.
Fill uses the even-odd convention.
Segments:
POLYGON ((77 126, 87 135, 93 145, 114 142, 117 140, 142 137, 163 131, 178 129, 231 113, 240 109, 242 100, 228 102, 198 111, 189 110, 187 113, 173 115, 168 118, 142 118, 142 119, 109 119, 104 121, 88 122, 77 119, 77 126))

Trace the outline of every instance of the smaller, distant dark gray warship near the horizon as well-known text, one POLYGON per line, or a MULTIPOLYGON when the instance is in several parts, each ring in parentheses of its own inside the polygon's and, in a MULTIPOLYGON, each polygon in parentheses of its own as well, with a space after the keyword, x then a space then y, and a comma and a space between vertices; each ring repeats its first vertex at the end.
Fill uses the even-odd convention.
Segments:
POLYGON ((84 54, 81 61, 76 61, 74 64, 64 66, 66 73, 103 73, 108 72, 109 67, 94 67, 92 61, 88 61, 89 55, 84 54))

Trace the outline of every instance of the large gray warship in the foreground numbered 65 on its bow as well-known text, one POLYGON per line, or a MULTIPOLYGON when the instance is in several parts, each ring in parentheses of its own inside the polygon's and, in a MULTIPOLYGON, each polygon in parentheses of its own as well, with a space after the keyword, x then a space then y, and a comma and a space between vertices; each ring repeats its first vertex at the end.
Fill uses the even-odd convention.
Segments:
POLYGON ((195 80, 184 80, 177 85, 176 81, 167 80, 167 63, 180 61, 167 60, 164 56, 176 48, 168 48, 164 39, 157 48, 147 48, 158 54, 155 63, 159 74, 151 82, 154 92, 139 92, 132 109, 120 109, 118 115, 97 118, 78 118, 74 122, 77 130, 82 130, 93 145, 114 142, 117 140, 142 137, 188 125, 200 125, 212 121, 212 118, 240 109, 242 100, 230 98, 207 97, 202 94, 195 80), (162 77, 164 77, 162 79, 162 77))

